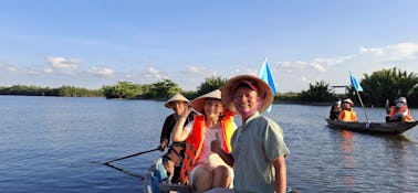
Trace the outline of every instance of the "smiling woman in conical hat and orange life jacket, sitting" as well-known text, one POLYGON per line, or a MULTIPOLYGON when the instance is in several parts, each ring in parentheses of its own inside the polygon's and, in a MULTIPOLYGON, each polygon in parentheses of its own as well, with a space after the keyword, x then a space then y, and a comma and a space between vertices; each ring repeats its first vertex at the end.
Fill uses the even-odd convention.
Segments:
POLYGON ((233 112, 222 104, 219 89, 197 97, 185 108, 174 128, 171 139, 186 140, 180 178, 194 192, 230 186, 233 171, 210 150, 210 142, 219 139, 222 150, 230 152, 230 138, 234 130, 233 112), (191 108, 201 115, 195 116, 194 121, 184 127, 191 108))

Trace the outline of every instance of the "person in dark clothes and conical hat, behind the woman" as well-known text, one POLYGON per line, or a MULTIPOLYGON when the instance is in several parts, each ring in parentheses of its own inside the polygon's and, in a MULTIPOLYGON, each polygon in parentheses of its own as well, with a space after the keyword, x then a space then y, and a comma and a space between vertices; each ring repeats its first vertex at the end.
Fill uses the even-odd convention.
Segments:
MULTIPOLYGON (((173 109, 174 112, 167 116, 166 120, 164 121, 159 140, 160 142, 158 146, 158 149, 160 151, 164 151, 170 143, 173 128, 176 125, 177 120, 180 118, 181 112, 185 111, 188 103, 189 100, 185 96, 177 93, 176 95, 171 96, 171 98, 169 98, 164 105, 165 107, 173 109)), ((192 114, 190 114, 190 116, 186 118, 185 125, 192 119, 192 114)), ((184 149, 184 141, 173 142, 167 153, 161 157, 164 169, 167 171, 168 180, 171 183, 176 183, 179 179, 181 161, 185 154, 184 149)))

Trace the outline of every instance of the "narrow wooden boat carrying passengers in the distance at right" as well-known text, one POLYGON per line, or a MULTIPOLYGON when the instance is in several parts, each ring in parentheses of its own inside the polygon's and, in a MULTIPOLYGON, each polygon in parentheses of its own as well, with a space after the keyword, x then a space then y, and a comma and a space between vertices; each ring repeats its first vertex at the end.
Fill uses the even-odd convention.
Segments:
POLYGON ((400 135, 416 125, 418 121, 412 122, 346 122, 339 120, 332 120, 325 118, 330 128, 345 129, 355 132, 365 133, 387 133, 387 135, 400 135))

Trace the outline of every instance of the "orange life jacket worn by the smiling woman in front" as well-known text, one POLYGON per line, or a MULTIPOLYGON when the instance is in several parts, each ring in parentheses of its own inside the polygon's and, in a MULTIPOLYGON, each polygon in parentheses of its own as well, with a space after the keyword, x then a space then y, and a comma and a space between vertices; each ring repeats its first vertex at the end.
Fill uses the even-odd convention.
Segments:
MULTIPOLYGON (((233 112, 227 111, 224 114, 221 120, 221 127, 223 138, 221 146, 226 152, 230 153, 232 151, 231 137, 236 128, 233 125, 233 112)), ((185 159, 180 172, 180 181, 182 183, 187 182, 187 176, 200 157, 205 143, 205 116, 195 116, 191 133, 189 133, 189 137, 186 139, 185 159)))

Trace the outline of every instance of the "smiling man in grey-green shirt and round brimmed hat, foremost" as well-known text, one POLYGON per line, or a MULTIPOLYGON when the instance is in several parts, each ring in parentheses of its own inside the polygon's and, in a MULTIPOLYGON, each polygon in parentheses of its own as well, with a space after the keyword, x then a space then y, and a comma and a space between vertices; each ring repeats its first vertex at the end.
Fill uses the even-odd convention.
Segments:
POLYGON ((272 119, 260 115, 274 97, 270 86, 251 75, 230 78, 222 88, 227 108, 240 114, 242 126, 233 133, 232 153, 212 141, 212 151, 233 165, 234 192, 286 191, 285 157, 290 153, 283 140, 282 128, 272 119))

